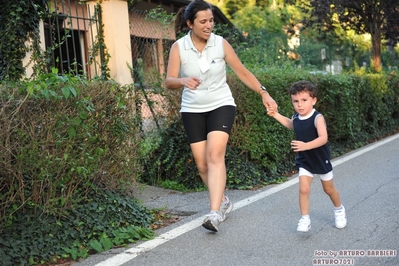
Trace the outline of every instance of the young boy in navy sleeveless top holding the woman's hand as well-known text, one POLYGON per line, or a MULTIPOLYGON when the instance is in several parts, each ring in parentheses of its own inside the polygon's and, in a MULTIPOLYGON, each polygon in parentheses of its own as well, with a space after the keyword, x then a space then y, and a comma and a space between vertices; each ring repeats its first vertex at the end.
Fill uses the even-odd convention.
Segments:
POLYGON ((323 190, 335 207, 335 226, 344 228, 345 208, 333 183, 326 122, 323 115, 314 109, 316 87, 309 81, 298 81, 291 86, 290 95, 295 109, 291 119, 279 114, 278 110, 269 109, 268 114, 286 128, 293 129, 296 135, 296 140, 291 141, 291 148, 297 152, 295 163, 299 171, 299 208, 302 214, 297 231, 307 232, 310 229, 309 195, 314 175, 320 177, 323 190))

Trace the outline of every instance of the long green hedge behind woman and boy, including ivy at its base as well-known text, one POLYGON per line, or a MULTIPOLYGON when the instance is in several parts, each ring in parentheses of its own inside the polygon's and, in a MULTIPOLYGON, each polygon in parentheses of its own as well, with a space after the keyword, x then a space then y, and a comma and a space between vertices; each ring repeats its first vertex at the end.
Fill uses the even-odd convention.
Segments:
MULTIPOLYGON (((316 109, 326 118, 333 156, 360 147, 393 132, 399 126, 399 75, 312 74, 293 67, 258 69, 255 75, 279 105, 279 112, 291 117, 294 109, 288 89, 298 80, 318 87, 316 109)), ((227 188, 248 189, 278 182, 295 170, 290 148, 293 131, 269 117, 258 94, 248 89, 235 74, 228 83, 237 104, 236 120, 227 154, 227 188)), ((142 156, 142 180, 160 184, 170 180, 186 188, 202 186, 180 120, 158 132, 151 152, 142 156)))

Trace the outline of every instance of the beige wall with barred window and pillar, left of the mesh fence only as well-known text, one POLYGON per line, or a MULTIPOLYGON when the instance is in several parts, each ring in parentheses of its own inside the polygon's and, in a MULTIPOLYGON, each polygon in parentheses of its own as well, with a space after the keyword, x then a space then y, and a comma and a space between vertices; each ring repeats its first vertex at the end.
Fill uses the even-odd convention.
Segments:
MULTIPOLYGON (((126 0, 97 1, 53 0, 48 16, 40 24, 43 51, 50 51, 51 64, 60 73, 83 74, 89 78, 101 75, 104 55, 109 55, 112 79, 121 84, 132 83, 127 65, 132 65, 129 15, 126 0), (101 15, 100 15, 101 14, 101 15), (104 25, 104 43, 98 38, 99 25, 104 25)), ((33 74, 27 55, 26 75, 33 74)))

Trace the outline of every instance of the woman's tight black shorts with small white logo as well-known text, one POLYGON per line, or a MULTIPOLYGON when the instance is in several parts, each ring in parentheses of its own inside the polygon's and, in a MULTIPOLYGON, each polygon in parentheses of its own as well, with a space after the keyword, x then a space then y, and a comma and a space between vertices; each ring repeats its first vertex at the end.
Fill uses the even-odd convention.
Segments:
POLYGON ((230 134, 236 115, 235 106, 222 106, 205 113, 181 113, 183 125, 190 143, 207 139, 211 131, 230 134))

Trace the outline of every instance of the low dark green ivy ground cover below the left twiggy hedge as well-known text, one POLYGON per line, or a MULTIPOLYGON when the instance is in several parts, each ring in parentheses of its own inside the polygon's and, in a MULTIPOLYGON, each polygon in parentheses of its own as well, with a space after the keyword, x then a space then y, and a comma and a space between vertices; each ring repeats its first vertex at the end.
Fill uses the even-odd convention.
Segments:
POLYGON ((2 265, 36 265, 60 258, 76 260, 92 252, 154 237, 149 229, 151 212, 135 199, 111 191, 93 190, 86 200, 76 202, 73 210, 60 218, 34 212, 33 207, 16 212, 15 225, 3 228, 2 265))

